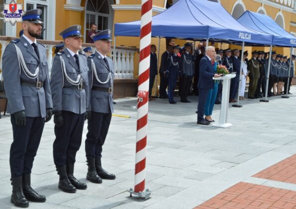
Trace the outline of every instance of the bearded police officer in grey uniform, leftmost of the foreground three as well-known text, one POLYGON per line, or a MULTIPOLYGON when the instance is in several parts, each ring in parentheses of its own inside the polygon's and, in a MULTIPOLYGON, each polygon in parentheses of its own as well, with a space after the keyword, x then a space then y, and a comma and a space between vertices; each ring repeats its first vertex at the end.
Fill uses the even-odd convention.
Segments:
POLYGON ((2 60, 8 112, 11 114, 13 142, 10 147, 12 195, 16 207, 29 207, 28 201, 45 202, 30 186, 34 157, 44 122, 52 116, 52 99, 45 47, 36 41, 43 22, 41 9, 22 16, 23 35, 5 48, 2 60))

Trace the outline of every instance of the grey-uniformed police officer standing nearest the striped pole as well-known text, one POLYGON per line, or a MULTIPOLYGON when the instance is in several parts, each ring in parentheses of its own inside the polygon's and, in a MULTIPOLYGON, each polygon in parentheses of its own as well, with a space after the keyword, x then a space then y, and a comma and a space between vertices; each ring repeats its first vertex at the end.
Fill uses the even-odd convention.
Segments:
POLYGON ((105 142, 113 109, 114 67, 106 54, 111 49, 111 30, 103 30, 92 36, 96 52, 88 57, 91 114, 88 118, 88 133, 85 151, 88 162, 87 179, 93 183, 101 183, 101 179, 115 179, 102 168, 101 153, 105 142))

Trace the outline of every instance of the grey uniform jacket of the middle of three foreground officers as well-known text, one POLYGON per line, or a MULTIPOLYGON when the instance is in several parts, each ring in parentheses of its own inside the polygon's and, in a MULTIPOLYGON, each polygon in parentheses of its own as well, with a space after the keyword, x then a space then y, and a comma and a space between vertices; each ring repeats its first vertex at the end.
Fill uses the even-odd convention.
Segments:
POLYGON ((53 111, 71 111, 76 114, 83 114, 89 109, 89 67, 87 58, 79 52, 79 67, 75 58, 67 48, 55 55, 51 71, 51 94, 53 111), (83 78, 83 88, 79 90, 68 82, 62 70, 60 56, 64 59, 67 75, 76 81, 79 74, 83 78), (71 88, 72 87, 72 88, 71 88))

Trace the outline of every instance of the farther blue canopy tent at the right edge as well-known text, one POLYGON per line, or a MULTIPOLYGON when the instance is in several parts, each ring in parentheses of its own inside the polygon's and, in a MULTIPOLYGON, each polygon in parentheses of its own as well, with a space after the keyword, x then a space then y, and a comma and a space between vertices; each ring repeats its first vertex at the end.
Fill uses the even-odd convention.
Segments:
MULTIPOLYGON (((253 29, 253 30, 273 35, 272 45, 282 46, 282 47, 291 47, 291 56, 292 56, 292 49, 293 49, 293 47, 296 47, 296 37, 291 35, 289 32, 287 32, 280 25, 278 25, 278 23, 276 23, 270 16, 255 13, 252 11, 245 11, 238 18, 237 21, 240 22, 241 24, 245 25, 246 27, 253 29)), ((272 45, 270 46, 270 53, 269 53, 269 64, 268 64, 267 82, 266 82, 267 87, 268 87, 269 74, 270 74, 272 45)), ((289 66, 288 75, 290 75, 291 60, 292 59, 290 59, 290 66, 289 66)), ((288 83, 289 83, 289 79, 290 78, 288 77, 288 83)), ((261 100, 262 102, 268 102, 267 90, 268 90, 268 88, 266 88, 265 100, 261 100)), ((284 98, 289 98, 288 91, 287 91, 287 96, 284 98)))

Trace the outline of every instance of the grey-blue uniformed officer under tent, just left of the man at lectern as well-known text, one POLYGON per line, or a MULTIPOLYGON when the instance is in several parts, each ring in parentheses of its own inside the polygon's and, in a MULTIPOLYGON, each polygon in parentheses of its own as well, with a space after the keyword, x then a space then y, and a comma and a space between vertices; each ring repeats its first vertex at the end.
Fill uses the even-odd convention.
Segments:
POLYGON ((187 42, 185 45, 185 52, 181 54, 181 73, 180 78, 181 82, 181 102, 182 103, 191 103, 187 100, 187 96, 190 91, 191 80, 194 76, 195 70, 193 65, 193 56, 190 53, 191 51, 191 43, 187 42))

